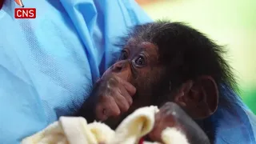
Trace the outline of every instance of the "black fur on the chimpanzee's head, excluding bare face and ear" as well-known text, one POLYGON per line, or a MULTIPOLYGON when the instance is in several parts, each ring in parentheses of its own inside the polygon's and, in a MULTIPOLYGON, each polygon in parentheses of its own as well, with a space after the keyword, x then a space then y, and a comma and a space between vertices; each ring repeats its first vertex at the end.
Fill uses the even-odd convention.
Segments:
MULTIPOLYGON (((205 34, 181 22, 159 21, 134 26, 121 38, 118 46, 126 45, 130 38, 139 42, 152 42, 158 46, 161 65, 166 67, 162 79, 158 81, 161 83, 156 83, 155 89, 151 91, 152 95, 162 96, 154 98, 153 105, 160 106, 162 102, 171 99, 170 94, 166 93, 177 90, 186 80, 210 75, 218 85, 219 105, 231 107, 222 86, 235 92, 237 85, 231 67, 223 58, 226 52, 223 46, 218 46, 205 34)), ((230 96, 235 97, 234 94, 230 94, 229 98, 230 96)), ((198 124, 214 142, 216 123, 211 118, 206 118, 198 124)))

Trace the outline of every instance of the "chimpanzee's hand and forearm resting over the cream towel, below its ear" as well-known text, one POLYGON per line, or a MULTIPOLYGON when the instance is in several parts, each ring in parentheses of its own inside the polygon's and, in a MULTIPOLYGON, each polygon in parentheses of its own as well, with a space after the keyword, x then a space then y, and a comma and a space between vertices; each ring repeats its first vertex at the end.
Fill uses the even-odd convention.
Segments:
POLYGON ((167 127, 174 127, 192 143, 208 144, 209 139, 196 122, 185 111, 174 102, 166 102, 155 115, 154 129, 150 132, 149 138, 156 142, 162 142, 162 130, 167 127))

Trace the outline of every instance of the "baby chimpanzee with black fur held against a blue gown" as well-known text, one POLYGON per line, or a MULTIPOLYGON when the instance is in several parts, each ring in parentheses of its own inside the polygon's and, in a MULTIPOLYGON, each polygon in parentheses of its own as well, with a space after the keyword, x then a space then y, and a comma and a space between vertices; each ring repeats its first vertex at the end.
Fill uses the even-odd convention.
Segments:
POLYGON ((134 26, 121 47, 119 60, 95 84, 78 115, 115 128, 138 107, 163 106, 151 140, 160 141, 161 131, 173 126, 190 143, 214 142, 209 117, 229 103, 220 86, 236 86, 222 47, 190 26, 167 21, 134 26))

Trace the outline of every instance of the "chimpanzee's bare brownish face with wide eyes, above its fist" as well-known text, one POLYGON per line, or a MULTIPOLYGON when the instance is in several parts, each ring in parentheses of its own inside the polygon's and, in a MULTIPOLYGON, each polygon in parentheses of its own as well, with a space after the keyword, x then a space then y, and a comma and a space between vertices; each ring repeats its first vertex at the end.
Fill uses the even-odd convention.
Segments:
MULTIPOLYGON (((122 114, 123 117, 138 107, 152 104, 152 90, 160 80, 163 70, 163 66, 158 61, 158 46, 151 42, 138 41, 135 38, 128 40, 118 61, 103 74, 103 77, 116 74, 136 87, 133 103, 128 112, 122 114)), ((117 120, 118 118, 114 118, 110 121, 117 120)))

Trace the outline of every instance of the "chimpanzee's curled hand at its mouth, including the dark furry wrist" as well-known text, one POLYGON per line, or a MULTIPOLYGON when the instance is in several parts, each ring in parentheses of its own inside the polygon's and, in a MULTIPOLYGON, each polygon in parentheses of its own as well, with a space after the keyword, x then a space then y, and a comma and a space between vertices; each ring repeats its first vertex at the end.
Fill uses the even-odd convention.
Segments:
POLYGON ((103 75, 75 115, 86 118, 87 122, 105 121, 128 110, 135 92, 135 87, 122 78, 114 74, 103 75))

